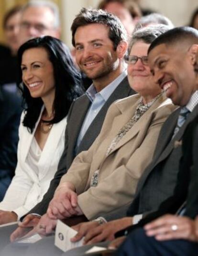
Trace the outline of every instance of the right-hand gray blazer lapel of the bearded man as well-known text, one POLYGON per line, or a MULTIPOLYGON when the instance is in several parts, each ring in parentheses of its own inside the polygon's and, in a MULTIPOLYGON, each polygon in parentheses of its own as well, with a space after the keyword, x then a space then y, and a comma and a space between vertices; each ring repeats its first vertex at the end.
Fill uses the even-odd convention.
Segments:
POLYGON ((99 132, 101 130, 102 124, 104 122, 107 110, 110 107, 110 104, 112 104, 115 100, 125 98, 127 96, 130 96, 134 94, 134 91, 130 88, 127 77, 124 78, 121 83, 118 85, 118 87, 114 90, 114 92, 111 94, 109 99, 106 101, 104 106, 101 108, 93 122, 88 127, 87 132, 85 133, 77 152, 81 152, 83 148, 87 148, 86 145, 91 145, 93 141, 96 139, 96 137, 99 135, 99 132), (91 136, 90 136, 91 134, 91 136))

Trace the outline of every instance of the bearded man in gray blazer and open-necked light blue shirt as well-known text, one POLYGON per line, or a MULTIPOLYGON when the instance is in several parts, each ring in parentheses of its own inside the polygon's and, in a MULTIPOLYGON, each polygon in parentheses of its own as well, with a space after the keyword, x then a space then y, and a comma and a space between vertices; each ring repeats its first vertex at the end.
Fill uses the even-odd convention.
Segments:
MULTIPOLYGON (((105 11, 82 9, 71 29, 77 64, 93 80, 93 84, 70 108, 65 150, 58 170, 43 200, 29 212, 40 216, 46 212, 60 178, 66 173, 74 157, 81 151, 88 150, 98 136, 110 104, 135 93, 129 86, 122 60, 127 49, 127 35, 120 20, 105 11)), ((23 227, 34 226, 38 221, 38 216, 28 214, 23 227)), ((19 228, 17 236, 23 230, 19 228)), ((4 232, 10 234, 10 229, 8 231, 5 228, 4 232)), ((5 236, 4 233, 4 243, 5 236)))

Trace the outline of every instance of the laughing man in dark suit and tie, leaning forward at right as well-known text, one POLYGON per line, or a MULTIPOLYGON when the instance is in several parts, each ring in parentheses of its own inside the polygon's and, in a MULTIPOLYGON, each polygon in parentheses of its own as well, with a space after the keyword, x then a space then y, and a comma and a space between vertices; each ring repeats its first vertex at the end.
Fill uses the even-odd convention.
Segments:
POLYGON ((78 239, 86 235, 87 243, 112 240, 116 232, 131 224, 136 224, 141 219, 141 223, 144 223, 145 216, 154 219, 166 212, 175 213, 186 199, 187 176, 184 171, 179 171, 179 163, 182 158, 182 136, 189 122, 198 116, 198 87, 193 66, 197 53, 195 44, 198 44, 198 31, 184 27, 164 33, 151 44, 149 62, 156 82, 166 91, 167 97, 181 107, 168 117, 161 129, 153 161, 138 182, 127 217, 95 229, 93 225, 96 226, 96 223, 89 224, 89 227, 88 224, 84 224, 84 227, 81 225, 78 227, 78 239), (184 107, 187 108, 186 119, 181 113, 186 111, 184 107), (183 123, 180 117, 183 118, 183 123), (177 180, 180 181, 178 184, 177 180), (160 204, 170 197, 171 200, 162 204, 160 211, 156 211, 160 204), (154 213, 149 214, 151 212, 154 213))

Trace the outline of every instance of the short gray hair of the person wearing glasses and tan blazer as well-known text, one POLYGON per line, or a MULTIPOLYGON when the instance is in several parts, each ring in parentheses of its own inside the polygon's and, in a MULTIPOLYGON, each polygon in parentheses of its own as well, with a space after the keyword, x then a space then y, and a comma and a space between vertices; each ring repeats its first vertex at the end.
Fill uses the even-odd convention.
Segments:
POLYGON ((143 41, 146 44, 151 44, 155 38, 165 33, 170 29, 169 26, 163 24, 154 24, 151 26, 143 27, 138 29, 132 34, 132 39, 129 44, 128 52, 131 52, 132 46, 138 42, 143 41))

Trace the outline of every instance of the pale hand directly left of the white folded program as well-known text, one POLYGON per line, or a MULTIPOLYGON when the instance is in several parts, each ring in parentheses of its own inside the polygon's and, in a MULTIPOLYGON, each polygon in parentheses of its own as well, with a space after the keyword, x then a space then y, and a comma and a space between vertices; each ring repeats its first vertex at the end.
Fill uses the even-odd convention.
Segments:
POLYGON ((56 223, 57 220, 50 219, 47 213, 45 213, 36 226, 36 232, 40 235, 52 234, 55 231, 56 223))

